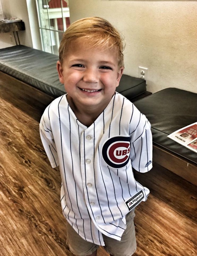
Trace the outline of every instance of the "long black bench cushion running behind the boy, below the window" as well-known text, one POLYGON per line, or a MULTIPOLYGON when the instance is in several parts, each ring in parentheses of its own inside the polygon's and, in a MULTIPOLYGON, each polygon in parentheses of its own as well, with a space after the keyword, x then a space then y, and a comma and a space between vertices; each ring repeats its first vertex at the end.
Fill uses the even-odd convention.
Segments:
MULTIPOLYGON (((34 86, 43 92, 59 97, 65 94, 59 82, 57 55, 18 45, 0 49, 0 70, 34 86)), ((123 75, 116 91, 129 100, 146 91, 146 81, 123 75)))

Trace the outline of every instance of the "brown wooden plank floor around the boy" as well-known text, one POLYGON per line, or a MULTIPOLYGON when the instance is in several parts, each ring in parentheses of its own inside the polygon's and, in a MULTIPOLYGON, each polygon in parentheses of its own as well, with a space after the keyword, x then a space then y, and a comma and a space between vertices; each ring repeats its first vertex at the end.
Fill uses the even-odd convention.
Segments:
MULTIPOLYGON (((0 255, 71 256, 60 174, 50 167, 39 136, 45 106, 17 86, 0 77, 0 255)), ((197 255, 196 186, 156 164, 136 179, 151 193, 136 209, 134 256, 197 255)), ((108 254, 99 248, 97 255, 108 254)))

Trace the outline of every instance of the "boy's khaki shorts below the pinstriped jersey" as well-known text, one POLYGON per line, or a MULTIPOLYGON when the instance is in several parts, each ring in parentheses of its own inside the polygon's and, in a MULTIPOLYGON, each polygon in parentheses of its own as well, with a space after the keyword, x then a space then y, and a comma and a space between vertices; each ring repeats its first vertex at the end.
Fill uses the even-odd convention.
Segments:
MULTIPOLYGON (((126 215, 127 228, 122 234, 121 241, 103 235, 104 249, 106 252, 114 256, 131 256, 136 251, 135 227, 133 219, 135 217, 134 210, 126 215)), ((98 245, 87 242, 67 222, 67 241, 66 244, 70 252, 78 256, 86 256, 92 254, 98 249, 98 245)))

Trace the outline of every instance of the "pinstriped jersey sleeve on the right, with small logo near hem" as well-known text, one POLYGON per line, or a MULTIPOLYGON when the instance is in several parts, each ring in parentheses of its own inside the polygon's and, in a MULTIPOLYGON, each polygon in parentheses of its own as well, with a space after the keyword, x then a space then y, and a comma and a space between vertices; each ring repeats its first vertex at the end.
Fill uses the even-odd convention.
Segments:
POLYGON ((134 118, 130 123, 130 157, 132 167, 138 172, 148 172, 152 168, 151 125, 144 114, 134 107, 134 118))

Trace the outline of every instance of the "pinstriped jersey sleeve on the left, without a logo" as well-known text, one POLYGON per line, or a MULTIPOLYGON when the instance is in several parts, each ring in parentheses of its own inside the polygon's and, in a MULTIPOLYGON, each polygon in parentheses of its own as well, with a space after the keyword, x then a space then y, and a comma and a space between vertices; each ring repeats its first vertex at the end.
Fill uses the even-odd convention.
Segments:
POLYGON ((53 139, 53 132, 50 125, 50 120, 48 118, 48 108, 42 115, 39 127, 43 147, 51 163, 51 166, 55 168, 59 166, 59 160, 56 145, 53 139))

